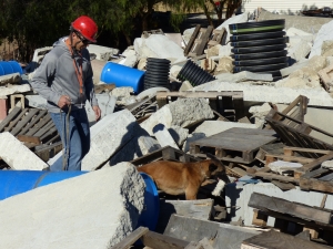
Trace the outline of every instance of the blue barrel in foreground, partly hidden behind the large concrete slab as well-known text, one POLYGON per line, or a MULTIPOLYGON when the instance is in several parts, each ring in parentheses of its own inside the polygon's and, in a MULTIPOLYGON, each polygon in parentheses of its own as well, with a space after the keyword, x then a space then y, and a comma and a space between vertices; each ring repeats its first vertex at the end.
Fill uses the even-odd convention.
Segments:
MULTIPOLYGON (((85 173, 88 172, 0 170, 0 200, 85 173)), ((154 231, 160 212, 159 193, 154 181, 147 174, 140 175, 144 179, 145 191, 144 209, 138 220, 138 227, 144 226, 154 231)))

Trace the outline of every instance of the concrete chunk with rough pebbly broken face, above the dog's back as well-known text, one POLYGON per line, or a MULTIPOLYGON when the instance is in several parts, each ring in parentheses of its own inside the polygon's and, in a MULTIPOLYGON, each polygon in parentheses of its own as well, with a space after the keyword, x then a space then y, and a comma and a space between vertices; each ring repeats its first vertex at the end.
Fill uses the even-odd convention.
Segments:
POLYGON ((163 124, 167 128, 172 125, 188 127, 213 117, 214 113, 204 98, 178 98, 153 113, 140 125, 153 135, 152 131, 157 124, 163 124))

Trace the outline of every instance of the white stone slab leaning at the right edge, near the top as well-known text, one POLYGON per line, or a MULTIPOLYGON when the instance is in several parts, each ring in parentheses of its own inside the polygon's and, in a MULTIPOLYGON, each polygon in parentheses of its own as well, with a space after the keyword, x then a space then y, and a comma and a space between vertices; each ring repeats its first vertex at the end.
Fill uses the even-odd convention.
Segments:
POLYGON ((324 41, 327 40, 333 40, 333 21, 323 24, 320 31, 317 32, 309 59, 311 59, 314 55, 321 55, 322 44, 324 41))

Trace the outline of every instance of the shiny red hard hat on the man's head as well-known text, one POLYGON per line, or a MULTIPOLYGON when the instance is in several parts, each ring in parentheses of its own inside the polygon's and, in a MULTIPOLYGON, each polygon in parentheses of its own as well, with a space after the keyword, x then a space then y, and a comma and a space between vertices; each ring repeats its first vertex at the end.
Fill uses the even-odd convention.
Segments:
POLYGON ((72 29, 78 31, 87 40, 91 42, 97 42, 95 35, 98 32, 98 25, 95 22, 87 17, 87 15, 81 15, 75 21, 72 22, 72 29))

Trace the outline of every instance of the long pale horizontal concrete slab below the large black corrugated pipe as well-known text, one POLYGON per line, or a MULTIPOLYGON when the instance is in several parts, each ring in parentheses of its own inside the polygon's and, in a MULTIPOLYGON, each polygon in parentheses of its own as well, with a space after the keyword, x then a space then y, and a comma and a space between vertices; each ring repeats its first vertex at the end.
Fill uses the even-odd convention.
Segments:
POLYGON ((234 84, 216 80, 195 86, 194 91, 243 91, 243 100, 245 102, 272 102, 280 104, 290 104, 297 96, 304 95, 310 98, 309 105, 333 106, 332 97, 323 89, 289 89, 244 83, 234 84))

